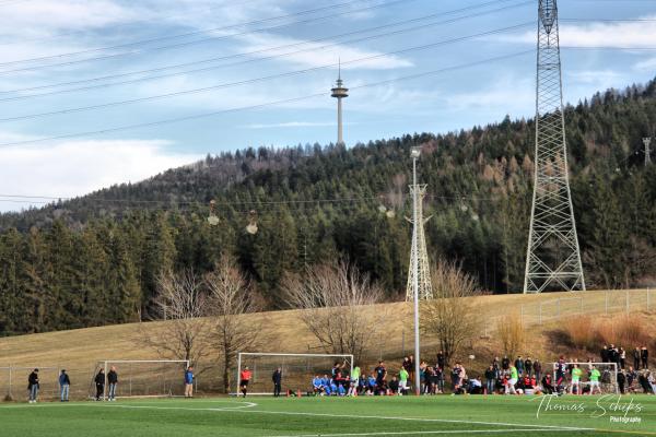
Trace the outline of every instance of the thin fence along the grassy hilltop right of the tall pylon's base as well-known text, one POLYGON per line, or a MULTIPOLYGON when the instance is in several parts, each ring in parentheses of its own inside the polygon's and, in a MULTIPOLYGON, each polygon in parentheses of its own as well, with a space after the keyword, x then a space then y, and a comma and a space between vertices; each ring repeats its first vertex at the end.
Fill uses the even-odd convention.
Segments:
POLYGON ((630 314, 656 310, 654 290, 576 292, 567 297, 522 305, 522 321, 542 324, 579 315, 630 314))

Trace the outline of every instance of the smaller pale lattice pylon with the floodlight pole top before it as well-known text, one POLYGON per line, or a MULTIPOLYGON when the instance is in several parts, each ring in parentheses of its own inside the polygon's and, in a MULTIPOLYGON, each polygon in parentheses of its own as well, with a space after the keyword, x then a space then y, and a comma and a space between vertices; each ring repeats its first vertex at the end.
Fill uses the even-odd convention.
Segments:
POLYGON ((431 285, 431 269, 429 265, 429 252, 426 250, 426 238, 423 225, 431 217, 423 217, 423 198, 426 194, 426 185, 417 185, 417 160, 421 151, 412 149, 412 246, 410 249, 410 267, 408 272, 408 286, 406 287, 406 300, 432 299, 433 287, 431 285))

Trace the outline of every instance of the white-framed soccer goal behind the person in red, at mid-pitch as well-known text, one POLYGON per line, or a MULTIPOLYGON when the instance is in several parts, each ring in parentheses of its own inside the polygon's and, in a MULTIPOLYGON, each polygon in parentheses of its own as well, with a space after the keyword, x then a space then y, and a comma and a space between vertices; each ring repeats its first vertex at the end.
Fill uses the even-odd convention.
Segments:
POLYGON ((312 379, 316 376, 331 375, 332 367, 338 364, 342 374, 353 373, 353 355, 351 354, 277 354, 261 352, 239 352, 237 355, 237 373, 231 394, 239 395, 238 383, 242 370, 251 371, 248 394, 273 394, 273 371, 280 367, 282 371, 282 393, 307 393, 312 390, 312 379))

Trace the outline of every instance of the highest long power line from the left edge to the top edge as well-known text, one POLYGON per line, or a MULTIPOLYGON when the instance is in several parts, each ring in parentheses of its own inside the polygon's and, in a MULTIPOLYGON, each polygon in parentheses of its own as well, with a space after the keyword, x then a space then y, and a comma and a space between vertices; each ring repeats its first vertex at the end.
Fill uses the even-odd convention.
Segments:
MULTIPOLYGON (((269 32, 269 31, 273 31, 273 29, 284 28, 284 27, 289 27, 292 25, 296 25, 296 24, 306 24, 306 23, 312 23, 312 22, 321 21, 321 20, 329 20, 329 19, 336 17, 336 16, 341 16, 341 15, 348 14, 348 13, 368 11, 372 9, 388 7, 390 4, 396 4, 396 3, 400 3, 400 2, 405 2, 405 1, 417 1, 417 0, 393 0, 393 1, 389 1, 384 4, 371 5, 371 7, 354 9, 354 10, 344 11, 344 12, 336 12, 336 13, 324 15, 324 16, 317 16, 317 17, 312 17, 312 19, 307 19, 307 20, 300 20, 300 21, 290 22, 290 23, 285 23, 285 24, 279 24, 279 25, 274 25, 274 26, 270 26, 270 27, 260 27, 260 28, 256 28, 253 31, 244 31, 244 32, 232 33, 229 35, 212 36, 212 37, 208 37, 208 38, 203 38, 203 39, 195 39, 191 42, 177 43, 177 44, 173 44, 173 45, 168 45, 168 46, 144 47, 144 48, 134 49, 131 51, 103 55, 103 56, 71 60, 71 61, 59 62, 59 63, 49 63, 49 64, 45 64, 45 66, 24 67, 24 68, 13 69, 13 70, 3 70, 3 71, 0 71, 0 74, 43 70, 43 69, 48 69, 48 68, 52 68, 52 67, 73 66, 73 64, 90 62, 90 61, 114 59, 114 58, 119 58, 119 57, 129 56, 129 55, 139 55, 139 54, 148 52, 148 51, 167 50, 167 49, 172 49, 172 48, 187 47, 189 45, 206 43, 206 42, 210 42, 210 40, 227 39, 227 38, 232 38, 235 36, 242 36, 242 35, 248 35, 248 34, 262 33, 262 32, 269 32)), ((31 59, 24 59, 21 61, 5 62, 4 64, 10 64, 13 62, 27 62, 30 60, 31 59)), ((3 66, 3 63, 0 63, 0 66, 3 66)))

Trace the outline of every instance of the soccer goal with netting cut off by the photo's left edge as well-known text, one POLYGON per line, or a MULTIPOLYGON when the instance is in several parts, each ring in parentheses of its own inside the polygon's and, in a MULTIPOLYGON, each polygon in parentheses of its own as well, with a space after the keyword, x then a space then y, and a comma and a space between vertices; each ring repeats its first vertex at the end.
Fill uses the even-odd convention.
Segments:
POLYGON ((59 368, 44 366, 5 366, 0 367, 0 401, 2 399, 27 399, 27 378, 34 369, 38 369, 39 399, 59 397, 59 368))

